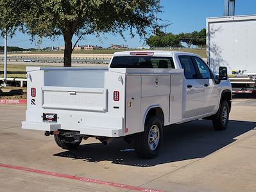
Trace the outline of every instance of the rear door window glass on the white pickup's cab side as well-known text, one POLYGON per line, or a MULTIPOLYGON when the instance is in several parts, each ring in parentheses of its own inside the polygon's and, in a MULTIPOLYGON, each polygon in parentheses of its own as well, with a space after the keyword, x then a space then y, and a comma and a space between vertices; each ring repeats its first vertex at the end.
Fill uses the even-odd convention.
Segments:
POLYGON ((191 56, 178 56, 186 79, 196 79, 196 69, 194 68, 191 56))

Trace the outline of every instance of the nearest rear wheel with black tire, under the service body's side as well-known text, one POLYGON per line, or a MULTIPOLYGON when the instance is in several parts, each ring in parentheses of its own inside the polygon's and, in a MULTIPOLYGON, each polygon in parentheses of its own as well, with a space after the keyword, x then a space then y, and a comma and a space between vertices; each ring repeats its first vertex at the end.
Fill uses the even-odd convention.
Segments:
POLYGON ((148 118, 144 132, 134 136, 134 148, 139 157, 151 159, 158 155, 162 143, 162 124, 156 116, 148 118), (151 139, 149 139, 151 136, 151 139))

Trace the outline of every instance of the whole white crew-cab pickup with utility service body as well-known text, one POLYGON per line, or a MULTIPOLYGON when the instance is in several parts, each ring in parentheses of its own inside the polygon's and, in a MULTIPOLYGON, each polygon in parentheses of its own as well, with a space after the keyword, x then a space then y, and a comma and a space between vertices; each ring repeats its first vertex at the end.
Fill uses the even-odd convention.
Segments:
POLYGON ((214 74, 187 52, 115 52, 108 68, 27 67, 23 129, 54 135, 72 149, 95 137, 123 137, 140 157, 157 156, 163 127, 198 118, 226 129, 232 90, 226 68, 214 74))

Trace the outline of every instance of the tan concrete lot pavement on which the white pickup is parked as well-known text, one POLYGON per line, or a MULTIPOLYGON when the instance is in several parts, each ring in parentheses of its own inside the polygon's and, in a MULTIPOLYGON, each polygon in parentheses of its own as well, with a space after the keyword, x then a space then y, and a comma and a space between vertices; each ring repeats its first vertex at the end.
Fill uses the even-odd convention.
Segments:
POLYGON ((226 131, 207 120, 166 127, 160 155, 149 160, 123 140, 63 150, 44 132, 21 129, 25 110, 0 105, 0 191, 256 191, 255 99, 234 99, 226 131), (85 177, 94 180, 74 179, 85 177))

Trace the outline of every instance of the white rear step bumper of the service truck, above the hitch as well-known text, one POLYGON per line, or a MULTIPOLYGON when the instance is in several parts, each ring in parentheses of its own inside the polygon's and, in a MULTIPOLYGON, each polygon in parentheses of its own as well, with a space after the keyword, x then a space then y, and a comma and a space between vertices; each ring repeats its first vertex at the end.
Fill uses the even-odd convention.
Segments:
MULTIPOLYGON (((58 123, 51 122, 22 122, 22 129, 31 129, 31 130, 39 130, 39 131, 57 131, 62 129, 62 125, 58 123)), ((69 129, 64 129, 69 130, 69 129)), ((88 126, 83 125, 81 129, 76 130, 79 131, 80 134, 85 134, 89 136, 103 136, 116 138, 123 136, 123 129, 110 128, 110 127, 96 127, 96 126, 88 126)))

